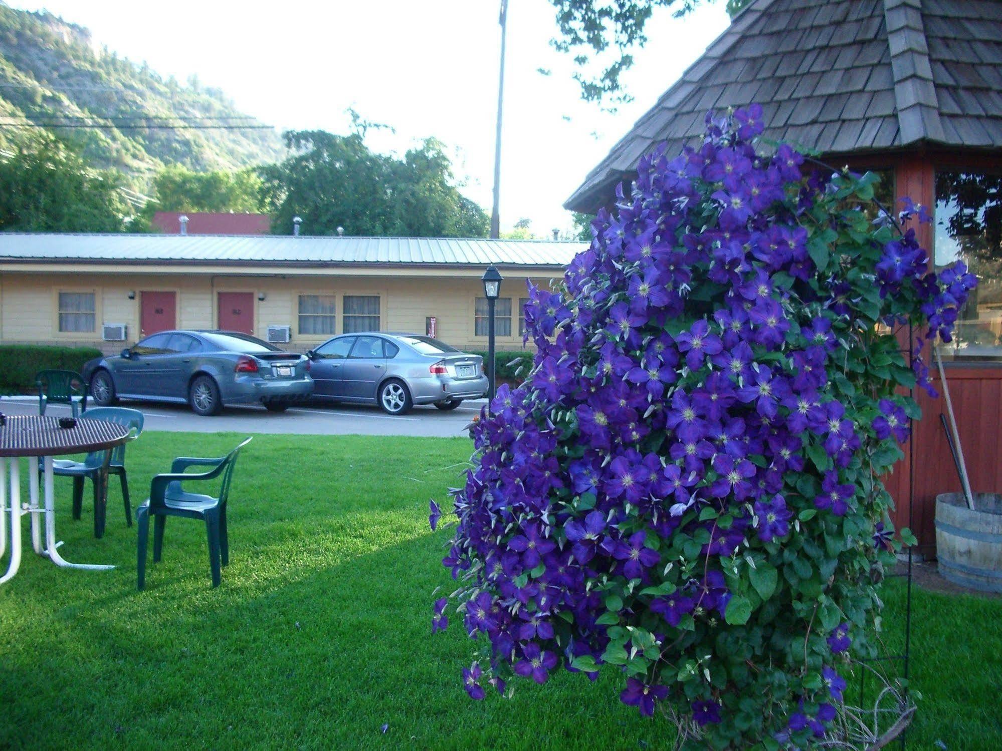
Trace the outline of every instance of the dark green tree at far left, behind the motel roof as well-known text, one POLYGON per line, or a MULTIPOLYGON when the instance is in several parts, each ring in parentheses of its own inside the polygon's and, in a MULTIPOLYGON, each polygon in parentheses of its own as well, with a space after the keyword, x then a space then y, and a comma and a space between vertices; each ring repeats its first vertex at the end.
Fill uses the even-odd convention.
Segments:
POLYGON ((0 229, 120 232, 132 209, 122 175, 87 165, 77 148, 42 131, 0 161, 0 229))

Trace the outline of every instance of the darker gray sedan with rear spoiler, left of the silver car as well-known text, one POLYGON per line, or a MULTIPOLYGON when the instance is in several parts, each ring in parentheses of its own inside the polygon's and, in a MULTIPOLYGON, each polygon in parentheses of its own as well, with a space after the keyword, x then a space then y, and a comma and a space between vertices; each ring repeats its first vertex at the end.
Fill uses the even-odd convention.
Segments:
POLYGON ((282 412, 314 388, 305 356, 232 331, 160 331, 91 360, 83 377, 101 407, 118 399, 187 402, 198 415, 237 404, 282 412))

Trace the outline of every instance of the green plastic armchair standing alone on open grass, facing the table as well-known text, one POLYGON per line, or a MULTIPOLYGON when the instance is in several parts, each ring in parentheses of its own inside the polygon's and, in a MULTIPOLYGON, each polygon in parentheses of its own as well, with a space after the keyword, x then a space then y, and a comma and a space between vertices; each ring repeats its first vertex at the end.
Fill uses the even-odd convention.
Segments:
POLYGON ((201 519, 205 522, 208 536, 208 564, 212 571, 212 586, 218 587, 222 576, 219 563, 229 564, 229 538, 226 534, 226 501, 229 485, 233 478, 233 467, 240 449, 250 443, 247 438, 225 457, 219 459, 181 458, 175 459, 170 473, 157 475, 149 486, 149 498, 136 509, 135 518, 139 523, 137 546, 138 587, 146 584, 146 546, 149 539, 149 517, 153 517, 153 563, 159 563, 163 550, 163 528, 167 517, 201 519), (204 473, 186 474, 189 467, 211 468, 204 473), (217 497, 188 493, 182 484, 220 480, 217 497))

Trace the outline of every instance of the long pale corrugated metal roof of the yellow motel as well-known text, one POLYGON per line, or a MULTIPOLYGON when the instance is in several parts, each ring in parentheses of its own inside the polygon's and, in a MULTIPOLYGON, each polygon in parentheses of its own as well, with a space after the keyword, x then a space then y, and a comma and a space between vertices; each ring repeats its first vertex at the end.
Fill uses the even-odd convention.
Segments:
POLYGON ((583 242, 451 237, 0 232, 0 261, 566 266, 586 247, 583 242))

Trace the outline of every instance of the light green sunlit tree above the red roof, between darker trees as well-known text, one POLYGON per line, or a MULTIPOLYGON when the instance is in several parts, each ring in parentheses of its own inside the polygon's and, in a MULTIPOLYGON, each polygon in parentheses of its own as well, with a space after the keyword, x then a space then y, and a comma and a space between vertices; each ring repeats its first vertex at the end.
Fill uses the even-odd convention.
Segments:
POLYGON ((262 210, 262 180, 254 169, 194 172, 178 164, 164 167, 152 181, 157 211, 262 210))

